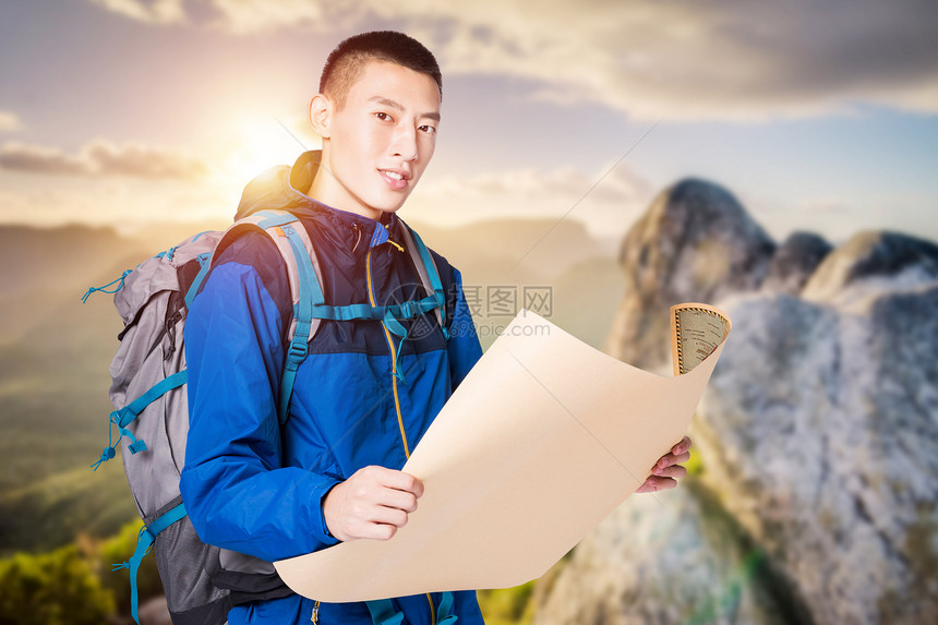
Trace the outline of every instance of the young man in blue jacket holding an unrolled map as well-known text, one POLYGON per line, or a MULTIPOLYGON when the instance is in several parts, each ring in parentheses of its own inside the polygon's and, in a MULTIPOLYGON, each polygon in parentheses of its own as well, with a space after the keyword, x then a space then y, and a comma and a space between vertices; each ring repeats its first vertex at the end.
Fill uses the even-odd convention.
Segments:
MULTIPOLYGON (((442 77, 435 59, 400 33, 342 41, 323 70, 310 123, 322 154, 245 189, 239 216, 288 208, 314 242, 333 305, 372 307, 423 296, 396 212, 433 156, 442 77)), ((390 539, 417 509, 422 483, 398 469, 481 357, 459 273, 433 253, 448 339, 436 317, 401 323, 323 321, 310 342, 280 429, 277 390, 291 318, 284 261, 262 235, 245 235, 213 261, 185 325, 191 426, 181 491, 207 543, 281 560, 338 541, 390 539)), ((642 491, 674 485, 684 440, 642 491)), ((455 592, 460 624, 481 623, 473 592, 455 592)), ((406 623, 436 621, 440 593, 399 598, 406 623)), ((364 603, 298 596, 239 605, 242 623, 361 623, 364 603)))

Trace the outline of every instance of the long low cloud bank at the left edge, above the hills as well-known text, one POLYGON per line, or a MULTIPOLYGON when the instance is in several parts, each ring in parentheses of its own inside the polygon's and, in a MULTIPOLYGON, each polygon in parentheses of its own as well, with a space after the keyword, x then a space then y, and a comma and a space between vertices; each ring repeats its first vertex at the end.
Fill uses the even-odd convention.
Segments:
POLYGON ((55 147, 11 142, 0 147, 0 168, 58 176, 127 176, 194 179, 207 166, 180 152, 141 144, 115 145, 104 140, 85 144, 77 154, 55 147))

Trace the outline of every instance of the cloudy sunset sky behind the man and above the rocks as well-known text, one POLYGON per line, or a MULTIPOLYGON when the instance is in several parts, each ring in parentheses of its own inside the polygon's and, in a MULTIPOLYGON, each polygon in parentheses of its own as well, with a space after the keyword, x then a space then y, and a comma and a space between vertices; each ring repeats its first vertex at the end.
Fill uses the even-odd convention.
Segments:
POLYGON ((345 37, 399 29, 444 75, 410 221, 579 220, 729 189, 777 240, 938 240, 931 0, 2 0, 0 224, 217 220, 318 139, 345 37))

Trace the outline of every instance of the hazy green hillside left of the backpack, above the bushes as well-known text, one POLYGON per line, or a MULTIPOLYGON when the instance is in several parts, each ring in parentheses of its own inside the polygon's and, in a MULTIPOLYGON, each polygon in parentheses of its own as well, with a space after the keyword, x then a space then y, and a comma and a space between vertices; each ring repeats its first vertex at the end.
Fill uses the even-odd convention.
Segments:
POLYGON ((121 324, 110 296, 81 297, 134 266, 141 245, 83 227, 0 228, 0 552, 112 533, 134 515, 120 465, 87 467, 107 443, 121 324))

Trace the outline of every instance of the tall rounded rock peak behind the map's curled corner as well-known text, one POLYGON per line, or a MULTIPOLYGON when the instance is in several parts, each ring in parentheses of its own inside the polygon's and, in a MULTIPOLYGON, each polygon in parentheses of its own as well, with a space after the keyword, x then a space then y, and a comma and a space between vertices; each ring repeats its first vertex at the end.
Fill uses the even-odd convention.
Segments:
POLYGON ((756 288, 775 243, 733 195, 685 180, 661 193, 622 242, 626 279, 606 351, 641 368, 669 364, 669 307, 756 288))

